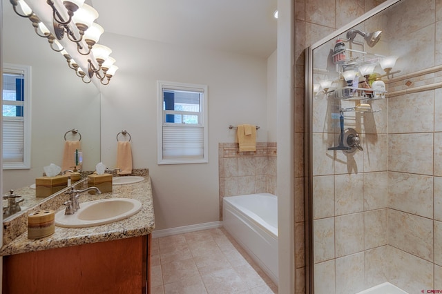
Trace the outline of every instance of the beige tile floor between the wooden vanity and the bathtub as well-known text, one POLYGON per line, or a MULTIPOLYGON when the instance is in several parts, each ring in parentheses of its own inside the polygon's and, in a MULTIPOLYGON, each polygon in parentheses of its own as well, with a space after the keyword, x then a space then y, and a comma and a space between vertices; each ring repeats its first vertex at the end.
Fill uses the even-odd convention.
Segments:
POLYGON ((152 239, 152 294, 275 294, 278 287, 224 228, 152 239))

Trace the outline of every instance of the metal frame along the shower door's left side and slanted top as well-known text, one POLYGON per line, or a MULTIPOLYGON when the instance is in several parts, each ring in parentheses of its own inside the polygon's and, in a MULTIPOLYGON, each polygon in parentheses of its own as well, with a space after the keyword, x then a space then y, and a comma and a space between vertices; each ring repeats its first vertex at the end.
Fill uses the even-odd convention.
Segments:
POLYGON ((369 10, 365 14, 361 15, 354 21, 347 23, 347 25, 332 32, 332 34, 320 39, 316 43, 313 43, 307 49, 305 49, 305 138, 304 138, 304 154, 307 159, 307 164, 304 169, 305 187, 304 187, 304 199, 305 199, 305 293, 314 294, 314 227, 313 227, 313 124, 311 119, 313 118, 313 51, 323 44, 336 39, 336 37, 342 35, 347 30, 363 23, 370 17, 390 8, 394 4, 402 0, 387 0, 384 3, 376 6, 372 10, 369 10))

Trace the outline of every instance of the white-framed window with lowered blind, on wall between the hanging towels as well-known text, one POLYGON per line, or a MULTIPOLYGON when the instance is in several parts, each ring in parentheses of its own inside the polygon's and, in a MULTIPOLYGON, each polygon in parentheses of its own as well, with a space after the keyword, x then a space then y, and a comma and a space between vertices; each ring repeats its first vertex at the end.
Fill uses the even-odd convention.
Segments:
POLYGON ((208 162, 207 86, 158 81, 158 164, 208 162))

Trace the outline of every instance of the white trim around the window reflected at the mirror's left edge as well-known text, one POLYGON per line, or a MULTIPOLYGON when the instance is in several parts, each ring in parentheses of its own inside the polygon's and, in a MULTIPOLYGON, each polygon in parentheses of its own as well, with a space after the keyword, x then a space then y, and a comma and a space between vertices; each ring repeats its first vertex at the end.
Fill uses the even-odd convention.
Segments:
MULTIPOLYGON (((23 115, 25 121, 23 124, 23 162, 4 162, 3 170, 12 169, 29 169, 30 168, 30 150, 31 150, 31 68, 30 66, 23 66, 19 64, 3 63, 3 72, 17 72, 23 71, 24 86, 23 86, 23 115)), ((3 115, 2 115, 3 119, 3 115)))

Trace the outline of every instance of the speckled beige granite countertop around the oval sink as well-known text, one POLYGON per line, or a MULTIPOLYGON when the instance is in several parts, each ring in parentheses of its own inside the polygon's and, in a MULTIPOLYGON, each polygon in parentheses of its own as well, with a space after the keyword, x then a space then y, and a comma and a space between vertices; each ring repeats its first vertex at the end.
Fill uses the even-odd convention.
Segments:
MULTIPOLYGON (((54 234, 41 239, 28 239, 28 231, 26 230, 18 237, 15 237, 15 239, 10 240, 7 244, 5 244, 3 240, 0 255, 13 255, 30 251, 41 251, 148 235, 155 228, 155 215, 153 211, 151 178, 148 177, 148 175, 144 177, 144 181, 135 184, 114 185, 112 193, 103 193, 100 195, 81 193, 79 197, 80 203, 105 198, 138 199, 142 202, 142 209, 139 213, 118 222, 103 224, 101 226, 91 226, 88 228, 61 228, 55 226, 54 234)), ((59 197, 61 197, 61 195, 59 195, 59 197)), ((64 200, 62 201, 64 202, 64 200)), ((66 206, 59 202, 54 202, 53 205, 55 207, 46 206, 46 209, 53 209, 57 213, 57 211, 66 208, 66 206)), ((3 239, 4 238, 3 233, 3 239)))

